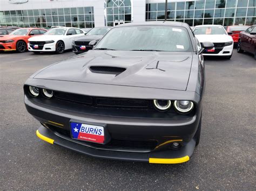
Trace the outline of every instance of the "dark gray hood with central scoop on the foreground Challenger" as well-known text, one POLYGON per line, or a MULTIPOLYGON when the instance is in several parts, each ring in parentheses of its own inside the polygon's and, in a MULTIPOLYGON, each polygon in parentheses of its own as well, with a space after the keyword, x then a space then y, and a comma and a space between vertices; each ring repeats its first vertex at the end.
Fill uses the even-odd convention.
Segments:
POLYGON ((192 53, 89 51, 42 69, 33 78, 186 90, 192 53), (91 66, 121 67, 118 75, 93 72, 91 66))

